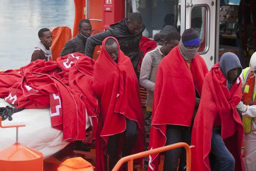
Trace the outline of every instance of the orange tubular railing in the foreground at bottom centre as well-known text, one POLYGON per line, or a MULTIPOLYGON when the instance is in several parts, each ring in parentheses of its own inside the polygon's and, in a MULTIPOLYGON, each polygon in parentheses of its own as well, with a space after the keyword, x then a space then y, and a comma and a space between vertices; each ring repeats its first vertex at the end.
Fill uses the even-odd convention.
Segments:
POLYGON ((112 171, 118 171, 119 168, 122 166, 122 164, 124 162, 128 162, 128 171, 133 171, 133 160, 134 159, 149 156, 151 154, 156 154, 156 153, 168 151, 168 150, 171 150, 171 149, 174 149, 174 148, 179 148, 179 147, 184 147, 186 149, 186 152, 187 152, 187 171, 190 171, 191 170, 191 150, 190 150, 190 148, 192 148, 194 146, 189 146, 187 143, 182 143, 182 142, 167 145, 167 146, 163 146, 163 147, 159 147, 159 148, 155 148, 155 149, 140 152, 140 153, 137 153, 137 154, 132 154, 132 155, 129 155, 129 156, 125 156, 117 162, 117 164, 115 165, 115 167, 113 168, 112 171))

